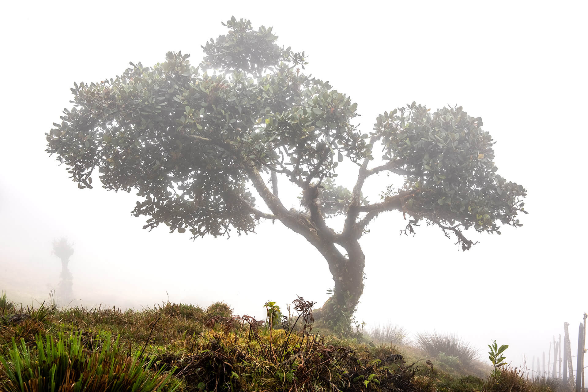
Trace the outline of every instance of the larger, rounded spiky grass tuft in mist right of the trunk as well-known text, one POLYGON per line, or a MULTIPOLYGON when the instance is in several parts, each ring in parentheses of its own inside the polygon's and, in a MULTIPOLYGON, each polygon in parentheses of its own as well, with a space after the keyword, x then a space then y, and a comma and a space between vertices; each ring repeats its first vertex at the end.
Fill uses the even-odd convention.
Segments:
POLYGON ((480 356, 475 347, 454 334, 417 333, 415 345, 432 357, 442 355, 447 358, 456 358, 464 368, 473 366, 480 356))

